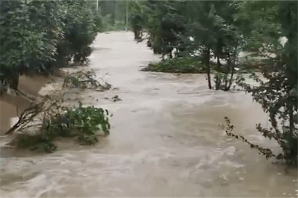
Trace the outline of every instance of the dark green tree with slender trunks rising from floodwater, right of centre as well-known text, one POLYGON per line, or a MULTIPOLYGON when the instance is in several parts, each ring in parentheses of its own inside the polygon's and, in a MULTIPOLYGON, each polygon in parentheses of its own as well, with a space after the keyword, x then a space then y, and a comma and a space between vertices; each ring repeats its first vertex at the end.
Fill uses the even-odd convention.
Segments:
MULTIPOLYGON (((187 1, 188 34, 192 37, 194 54, 199 51, 207 67, 208 87, 211 85, 210 60, 217 59, 215 89, 228 91, 233 82, 234 67, 238 52, 241 50, 242 37, 237 30, 233 14, 234 3, 231 1, 187 1), (213 55, 212 55, 213 54, 213 55), (224 65, 221 61, 225 61, 224 65)), ((189 44, 188 44, 189 45, 189 44)))

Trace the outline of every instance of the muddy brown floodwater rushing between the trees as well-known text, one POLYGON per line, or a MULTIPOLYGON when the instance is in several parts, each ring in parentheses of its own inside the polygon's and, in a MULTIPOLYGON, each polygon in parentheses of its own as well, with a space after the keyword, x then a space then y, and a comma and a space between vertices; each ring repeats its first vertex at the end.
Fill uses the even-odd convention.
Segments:
POLYGON ((93 48, 90 67, 115 89, 67 97, 112 112, 111 135, 92 147, 62 142, 52 154, 1 155, 1 198, 297 197, 297 169, 218 126, 228 116, 235 133, 279 151, 255 130, 269 123, 249 95, 208 90, 204 74, 141 72, 159 57, 130 32, 99 34, 93 48))

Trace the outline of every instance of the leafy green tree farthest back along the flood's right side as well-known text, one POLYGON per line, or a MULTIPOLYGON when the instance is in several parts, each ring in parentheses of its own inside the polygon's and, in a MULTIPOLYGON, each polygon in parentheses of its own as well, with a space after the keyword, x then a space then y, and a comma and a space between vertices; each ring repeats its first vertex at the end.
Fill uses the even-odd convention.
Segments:
POLYGON ((172 58, 173 49, 181 49, 180 36, 185 32, 185 17, 181 12, 181 5, 184 3, 182 1, 145 1, 135 4, 132 27, 137 32, 144 29, 149 33, 149 47, 154 53, 172 58))

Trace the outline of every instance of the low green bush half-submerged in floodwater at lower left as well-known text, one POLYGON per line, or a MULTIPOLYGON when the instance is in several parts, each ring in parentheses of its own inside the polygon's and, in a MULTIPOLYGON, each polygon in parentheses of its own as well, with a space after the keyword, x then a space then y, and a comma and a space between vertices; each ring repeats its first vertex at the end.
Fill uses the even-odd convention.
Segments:
POLYGON ((20 134, 15 143, 19 148, 42 149, 46 152, 56 150, 53 143, 58 137, 76 137, 81 145, 94 145, 98 142, 96 132, 102 130, 104 136, 110 134, 109 112, 94 106, 83 107, 79 102, 73 108, 51 117, 44 117, 40 133, 20 134))

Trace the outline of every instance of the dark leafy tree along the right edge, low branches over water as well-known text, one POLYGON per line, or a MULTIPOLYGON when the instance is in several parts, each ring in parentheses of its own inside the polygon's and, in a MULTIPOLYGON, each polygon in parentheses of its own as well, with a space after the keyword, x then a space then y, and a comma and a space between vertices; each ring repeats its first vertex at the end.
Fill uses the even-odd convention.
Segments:
MULTIPOLYGON (((280 29, 279 34, 272 34, 270 31, 252 32, 254 40, 274 41, 271 45, 264 45, 260 55, 274 52, 276 57, 272 64, 261 69, 266 81, 262 81, 257 75, 253 74, 254 79, 259 82, 259 86, 250 86, 240 83, 248 93, 252 94, 255 101, 260 103, 265 112, 269 113, 271 128, 263 128, 257 124, 257 130, 266 138, 274 139, 283 149, 283 153, 274 154, 270 149, 251 145, 266 157, 276 157, 285 159, 288 164, 297 165, 298 156, 298 3, 297 1, 275 1, 274 3, 263 3, 247 1, 241 6, 249 10, 251 3, 258 6, 259 12, 264 10, 276 10, 275 17, 264 17, 266 20, 252 23, 254 27, 264 24, 279 24, 276 28, 280 29), (285 36, 288 42, 283 47, 277 41, 280 36, 285 36), (258 38, 259 37, 259 38, 258 38)), ((252 16, 253 17, 253 16, 252 16)), ((263 19, 264 19, 263 18, 263 19)), ((247 142, 246 139, 242 139, 247 142)))

